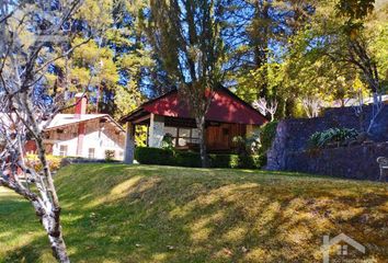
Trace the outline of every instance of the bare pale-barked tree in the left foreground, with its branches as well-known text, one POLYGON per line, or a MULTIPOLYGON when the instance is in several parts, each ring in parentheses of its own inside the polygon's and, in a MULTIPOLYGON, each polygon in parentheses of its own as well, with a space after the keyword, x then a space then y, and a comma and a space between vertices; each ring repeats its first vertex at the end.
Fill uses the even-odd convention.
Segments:
POLYGON ((68 87, 58 92, 46 81, 46 75, 54 61, 68 58, 83 44, 71 46, 68 37, 69 22, 80 5, 81 0, 57 1, 55 5, 47 0, 0 1, 0 186, 33 205, 53 254, 61 263, 70 260, 46 158, 44 130, 65 107, 68 87), (39 171, 25 161, 27 140, 36 144, 43 167, 39 171))

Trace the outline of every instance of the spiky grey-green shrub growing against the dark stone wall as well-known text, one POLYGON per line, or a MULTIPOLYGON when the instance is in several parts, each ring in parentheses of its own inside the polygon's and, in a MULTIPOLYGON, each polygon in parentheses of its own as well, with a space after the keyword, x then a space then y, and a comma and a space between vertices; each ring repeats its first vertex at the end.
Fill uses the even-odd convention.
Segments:
POLYGON ((342 144, 347 140, 355 140, 358 136, 356 129, 330 128, 312 134, 308 140, 310 148, 322 148, 330 144, 342 144))

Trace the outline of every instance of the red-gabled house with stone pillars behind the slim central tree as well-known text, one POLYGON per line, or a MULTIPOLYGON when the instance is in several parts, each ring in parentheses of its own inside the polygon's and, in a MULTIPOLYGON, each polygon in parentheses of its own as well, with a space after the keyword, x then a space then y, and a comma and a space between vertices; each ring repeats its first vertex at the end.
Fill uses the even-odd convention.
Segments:
MULTIPOLYGON (((206 146, 209 152, 231 152, 236 148, 233 138, 246 136, 267 119, 250 104, 225 88, 213 91, 206 114, 206 146)), ((198 130, 189 106, 178 92, 148 101, 121 118, 127 124, 126 162, 133 160, 135 127, 147 127, 147 146, 161 147, 164 135, 173 138, 178 149, 198 149, 198 130)))

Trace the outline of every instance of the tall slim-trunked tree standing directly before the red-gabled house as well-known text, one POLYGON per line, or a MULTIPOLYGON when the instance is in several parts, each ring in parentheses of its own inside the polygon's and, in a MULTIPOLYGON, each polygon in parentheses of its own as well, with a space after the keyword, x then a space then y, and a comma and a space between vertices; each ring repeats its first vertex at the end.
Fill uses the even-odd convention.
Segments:
POLYGON ((151 0, 149 37, 195 118, 203 167, 208 165, 205 115, 224 79, 222 26, 219 0, 151 0))

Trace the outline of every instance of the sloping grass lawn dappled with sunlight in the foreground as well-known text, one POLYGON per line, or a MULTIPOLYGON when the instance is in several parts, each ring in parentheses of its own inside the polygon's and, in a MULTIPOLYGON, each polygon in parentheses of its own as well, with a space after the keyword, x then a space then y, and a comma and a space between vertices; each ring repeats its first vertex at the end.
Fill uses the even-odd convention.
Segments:
MULTIPOLYGON (((59 171, 56 185, 72 262, 321 262, 322 236, 341 232, 366 247, 361 259, 388 259, 384 183, 76 164, 59 171)), ((33 208, 4 188, 0 262, 53 262, 33 208)))

